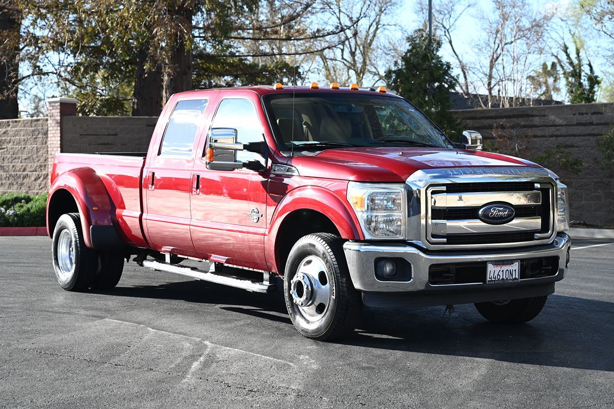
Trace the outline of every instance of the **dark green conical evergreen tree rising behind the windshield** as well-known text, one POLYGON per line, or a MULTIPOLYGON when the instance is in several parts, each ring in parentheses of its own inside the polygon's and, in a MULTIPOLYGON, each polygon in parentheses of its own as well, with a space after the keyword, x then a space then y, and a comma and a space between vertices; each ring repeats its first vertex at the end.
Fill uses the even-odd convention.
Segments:
POLYGON ((450 113, 450 93, 457 83, 452 66, 438 54, 441 40, 424 29, 407 37, 408 48, 394 69, 386 71, 391 90, 416 105, 451 139, 461 137, 459 121, 450 113))

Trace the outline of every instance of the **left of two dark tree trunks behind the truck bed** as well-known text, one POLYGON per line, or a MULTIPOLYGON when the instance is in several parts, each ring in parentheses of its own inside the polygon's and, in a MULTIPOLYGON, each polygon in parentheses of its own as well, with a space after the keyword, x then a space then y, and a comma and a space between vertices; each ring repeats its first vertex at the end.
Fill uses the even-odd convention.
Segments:
POLYGON ((142 47, 136 55, 133 117, 157 117, 162 112, 162 71, 157 64, 147 71, 146 63, 147 47, 142 47))

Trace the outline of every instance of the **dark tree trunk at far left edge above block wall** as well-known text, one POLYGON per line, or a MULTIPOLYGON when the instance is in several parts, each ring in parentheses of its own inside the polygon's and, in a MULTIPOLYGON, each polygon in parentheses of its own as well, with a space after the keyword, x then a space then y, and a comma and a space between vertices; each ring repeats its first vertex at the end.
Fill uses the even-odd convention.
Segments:
POLYGON ((0 120, 19 117, 17 79, 19 76, 19 29, 21 16, 17 10, 0 5, 0 38, 6 40, 0 50, 0 120))

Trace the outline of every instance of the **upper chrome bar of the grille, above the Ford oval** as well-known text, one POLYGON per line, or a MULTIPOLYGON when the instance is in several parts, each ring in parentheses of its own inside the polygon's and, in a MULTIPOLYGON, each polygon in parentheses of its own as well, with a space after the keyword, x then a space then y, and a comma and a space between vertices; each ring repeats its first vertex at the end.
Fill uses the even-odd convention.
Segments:
POLYGON ((542 192, 496 192, 496 193, 437 193, 430 196, 431 208, 478 207, 486 203, 505 202, 511 205, 538 205, 542 192))

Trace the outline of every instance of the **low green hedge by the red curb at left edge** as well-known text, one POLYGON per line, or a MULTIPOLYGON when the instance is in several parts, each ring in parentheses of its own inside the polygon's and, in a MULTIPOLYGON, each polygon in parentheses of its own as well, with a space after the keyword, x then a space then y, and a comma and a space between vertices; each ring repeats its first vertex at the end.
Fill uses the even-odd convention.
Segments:
POLYGON ((0 194, 0 227, 45 226, 47 194, 0 194))

